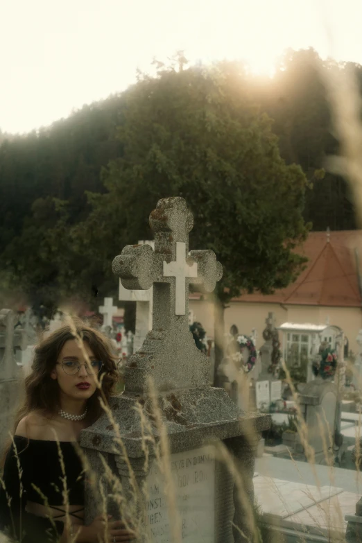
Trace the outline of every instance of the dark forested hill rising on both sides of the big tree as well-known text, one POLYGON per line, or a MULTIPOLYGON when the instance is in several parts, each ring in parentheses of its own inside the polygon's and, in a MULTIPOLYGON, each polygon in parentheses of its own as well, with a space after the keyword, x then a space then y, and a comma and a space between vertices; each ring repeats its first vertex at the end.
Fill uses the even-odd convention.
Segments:
MULTIPOLYGON (((272 129, 286 164, 300 164, 313 184, 305 196, 305 221, 313 223, 313 230, 348 230, 355 223, 345 180, 331 173, 318 175, 325 157, 338 152, 320 75, 325 63, 311 49, 289 51, 273 79, 243 78, 243 92, 251 94, 260 111, 273 119, 272 129)), ((345 69, 345 64, 339 69, 345 69)), ((355 69, 362 82, 361 66, 355 69)), ((51 248, 40 251, 44 233, 49 235, 56 226, 54 238, 59 239, 62 227, 68 231, 87 218, 91 209, 87 191, 105 192, 101 171, 123 156, 117 127, 123 123, 126 95, 85 105, 68 119, 28 135, 7 137, 0 132, 2 293, 15 274, 24 281, 24 291, 42 285, 45 291, 39 301, 49 296, 58 281, 60 247, 54 243, 54 252, 51 248)), ((62 263, 67 259, 65 238, 62 263)), ((69 266, 73 265, 69 260, 69 266)))

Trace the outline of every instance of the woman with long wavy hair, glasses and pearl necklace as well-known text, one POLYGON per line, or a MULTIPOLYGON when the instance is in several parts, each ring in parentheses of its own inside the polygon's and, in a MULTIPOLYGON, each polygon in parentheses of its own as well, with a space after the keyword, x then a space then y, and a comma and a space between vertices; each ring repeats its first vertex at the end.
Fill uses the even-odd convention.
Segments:
POLYGON ((80 320, 37 345, 0 479, 0 531, 22 543, 126 542, 135 537, 111 517, 84 525, 83 463, 74 446, 80 432, 101 415, 99 398, 107 401, 116 382, 107 340, 80 320))

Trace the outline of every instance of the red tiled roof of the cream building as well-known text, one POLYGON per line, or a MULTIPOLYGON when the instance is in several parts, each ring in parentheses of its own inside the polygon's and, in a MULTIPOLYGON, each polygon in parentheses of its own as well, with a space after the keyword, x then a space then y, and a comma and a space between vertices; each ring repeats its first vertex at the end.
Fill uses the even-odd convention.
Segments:
POLYGON ((311 232, 298 252, 309 261, 298 279, 272 295, 244 294, 239 302, 361 307, 356 250, 362 273, 362 230, 311 232), (329 239, 328 239, 329 237, 329 239))

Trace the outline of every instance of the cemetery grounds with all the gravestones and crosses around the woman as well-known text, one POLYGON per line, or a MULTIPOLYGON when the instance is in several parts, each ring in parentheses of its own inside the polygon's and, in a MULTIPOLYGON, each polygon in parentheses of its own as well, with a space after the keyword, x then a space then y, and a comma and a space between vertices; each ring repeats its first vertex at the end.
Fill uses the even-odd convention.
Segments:
MULTIPOLYGON (((251 529, 248 508, 255 507, 263 530, 286 541, 346 534, 354 541, 362 519, 354 475, 360 461, 362 330, 347 383, 350 354, 341 327, 277 323, 269 312, 259 331, 264 343, 257 349, 258 330, 240 334, 233 325, 225 332, 218 367, 223 388, 214 388, 214 342, 189 310, 189 286, 212 293, 222 266, 210 250, 189 250, 193 218, 182 198, 160 200, 150 226, 155 241, 128 245, 113 262, 119 301, 136 304, 135 336, 113 320, 119 309, 112 298, 98 308, 100 329, 112 343, 125 384, 110 404, 112 424, 105 413, 82 432, 80 445, 96 476, 85 488, 85 522, 100 510, 106 463, 123 489, 128 514, 142 519, 139 542, 172 540, 170 481, 184 541, 244 541, 236 527, 251 529), (160 464, 162 454, 171 467, 170 480, 160 464), (241 476, 248 503, 237 496, 240 480, 228 462, 241 476), (140 493, 135 494, 135 484, 140 493), (334 509, 339 516, 331 514, 334 509)), ((3 309, 0 318, 4 447, 21 382, 31 371, 37 323, 30 309, 17 326, 13 311, 3 309)), ((46 333, 64 318, 62 311, 55 313, 46 333)), ((107 510, 118 515, 112 483, 106 486, 107 510)))

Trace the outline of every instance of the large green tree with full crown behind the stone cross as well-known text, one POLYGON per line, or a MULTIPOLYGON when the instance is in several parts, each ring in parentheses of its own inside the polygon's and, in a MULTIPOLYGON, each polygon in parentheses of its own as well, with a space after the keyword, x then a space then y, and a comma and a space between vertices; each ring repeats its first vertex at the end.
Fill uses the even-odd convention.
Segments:
POLYGON ((304 259, 293 249, 307 235, 307 180, 280 157, 239 63, 185 69, 179 57, 170 68, 159 64, 155 77, 140 76, 125 101, 123 157, 103 171, 107 193, 92 197, 74 239, 85 255, 106 257, 106 246, 114 257, 123 244, 148 239, 157 200, 184 197, 195 218, 190 247, 214 250, 224 266, 216 288, 220 359, 225 304, 241 291, 270 293, 300 272, 304 259))

